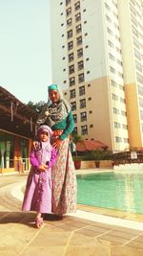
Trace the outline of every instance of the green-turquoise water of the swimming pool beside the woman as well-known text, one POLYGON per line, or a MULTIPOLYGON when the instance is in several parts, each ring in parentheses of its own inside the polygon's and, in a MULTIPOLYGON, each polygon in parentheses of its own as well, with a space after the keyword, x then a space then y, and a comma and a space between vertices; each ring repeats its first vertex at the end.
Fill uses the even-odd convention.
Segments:
POLYGON ((77 203, 143 214, 143 174, 77 175, 77 203))

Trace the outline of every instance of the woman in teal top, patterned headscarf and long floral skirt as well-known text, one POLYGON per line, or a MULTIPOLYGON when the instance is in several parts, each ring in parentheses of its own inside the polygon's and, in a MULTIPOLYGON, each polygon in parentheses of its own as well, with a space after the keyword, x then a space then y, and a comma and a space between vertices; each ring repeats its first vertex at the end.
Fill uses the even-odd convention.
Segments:
POLYGON ((52 167, 52 212, 63 216, 76 209, 76 176, 70 135, 74 128, 71 106, 62 98, 57 84, 48 87, 49 102, 39 115, 37 124, 51 127, 52 147, 58 150, 52 167))

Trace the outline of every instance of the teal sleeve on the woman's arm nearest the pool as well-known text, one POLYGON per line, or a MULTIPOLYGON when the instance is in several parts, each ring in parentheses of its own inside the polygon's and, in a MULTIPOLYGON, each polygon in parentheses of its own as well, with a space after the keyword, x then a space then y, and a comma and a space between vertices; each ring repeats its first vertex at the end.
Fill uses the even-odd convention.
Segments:
POLYGON ((68 117, 67 117, 67 127, 64 129, 62 135, 60 136, 61 140, 64 140, 72 133, 72 130, 74 128, 74 121, 72 116, 72 110, 70 111, 68 117))

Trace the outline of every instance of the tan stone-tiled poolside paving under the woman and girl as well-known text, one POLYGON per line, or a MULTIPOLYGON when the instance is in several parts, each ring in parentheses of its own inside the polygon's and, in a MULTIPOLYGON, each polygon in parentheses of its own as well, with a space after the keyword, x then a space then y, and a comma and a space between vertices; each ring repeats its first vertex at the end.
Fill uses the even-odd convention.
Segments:
POLYGON ((0 176, 1 256, 143 256, 141 230, 71 216, 57 220, 52 215, 36 229, 35 214, 21 212, 21 201, 11 194, 26 178, 0 176))

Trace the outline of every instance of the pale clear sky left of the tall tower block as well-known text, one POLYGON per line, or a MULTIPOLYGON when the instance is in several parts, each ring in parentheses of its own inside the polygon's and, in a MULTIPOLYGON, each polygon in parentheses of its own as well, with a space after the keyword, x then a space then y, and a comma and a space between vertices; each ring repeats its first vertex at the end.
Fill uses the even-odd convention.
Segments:
POLYGON ((0 0, 0 86, 22 103, 47 102, 50 0, 0 0))

